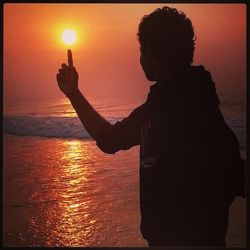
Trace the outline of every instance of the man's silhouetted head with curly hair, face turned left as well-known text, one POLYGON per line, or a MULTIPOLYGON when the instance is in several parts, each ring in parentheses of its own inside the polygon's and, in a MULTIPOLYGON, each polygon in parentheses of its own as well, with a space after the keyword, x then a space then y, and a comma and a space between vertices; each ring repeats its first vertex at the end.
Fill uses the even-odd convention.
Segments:
POLYGON ((140 62, 148 80, 174 72, 193 62, 195 35, 192 22, 175 8, 158 8, 145 15, 138 29, 140 62))

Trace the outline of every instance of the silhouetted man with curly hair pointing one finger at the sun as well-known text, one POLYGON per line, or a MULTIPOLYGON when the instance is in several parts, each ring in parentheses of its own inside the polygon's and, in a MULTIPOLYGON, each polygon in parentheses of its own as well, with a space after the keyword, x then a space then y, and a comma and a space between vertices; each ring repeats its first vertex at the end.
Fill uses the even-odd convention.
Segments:
POLYGON ((224 246, 229 206, 244 188, 242 160, 210 73, 191 65, 192 23, 163 7, 142 18, 137 35, 141 66, 156 83, 127 118, 111 125, 93 109, 70 50, 59 88, 103 152, 140 145, 141 232, 150 246, 224 246))

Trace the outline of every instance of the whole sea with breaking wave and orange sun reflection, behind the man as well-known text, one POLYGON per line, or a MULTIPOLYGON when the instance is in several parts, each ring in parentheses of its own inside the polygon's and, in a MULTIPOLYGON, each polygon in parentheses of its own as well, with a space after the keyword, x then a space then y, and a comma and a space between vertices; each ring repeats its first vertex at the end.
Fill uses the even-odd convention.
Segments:
MULTIPOLYGON (((245 158, 245 95, 219 97, 245 158)), ((146 95, 88 100, 115 123, 146 95)), ((3 111, 4 246, 148 246, 140 233, 138 146, 103 153, 63 96, 4 99, 3 111)), ((245 211, 245 199, 236 198, 227 246, 245 246, 245 211)))

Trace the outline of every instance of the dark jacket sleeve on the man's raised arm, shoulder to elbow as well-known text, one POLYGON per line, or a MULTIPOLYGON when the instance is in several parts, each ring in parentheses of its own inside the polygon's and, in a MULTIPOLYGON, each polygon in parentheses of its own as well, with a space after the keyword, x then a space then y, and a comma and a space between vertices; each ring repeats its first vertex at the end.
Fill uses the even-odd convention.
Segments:
POLYGON ((114 154, 140 144, 143 106, 136 108, 122 121, 103 126, 96 138, 96 144, 104 153, 114 154))

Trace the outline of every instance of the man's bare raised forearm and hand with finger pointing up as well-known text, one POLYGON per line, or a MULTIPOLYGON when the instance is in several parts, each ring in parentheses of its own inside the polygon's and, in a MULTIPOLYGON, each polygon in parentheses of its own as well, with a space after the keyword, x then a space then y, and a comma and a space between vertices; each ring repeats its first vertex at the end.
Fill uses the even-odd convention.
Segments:
POLYGON ((89 104, 78 89, 78 73, 73 66, 71 50, 68 50, 68 65, 63 63, 57 74, 57 82, 60 90, 69 98, 83 126, 89 135, 96 140, 100 130, 109 124, 89 104))

